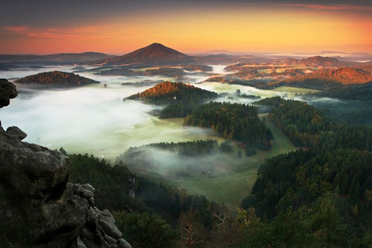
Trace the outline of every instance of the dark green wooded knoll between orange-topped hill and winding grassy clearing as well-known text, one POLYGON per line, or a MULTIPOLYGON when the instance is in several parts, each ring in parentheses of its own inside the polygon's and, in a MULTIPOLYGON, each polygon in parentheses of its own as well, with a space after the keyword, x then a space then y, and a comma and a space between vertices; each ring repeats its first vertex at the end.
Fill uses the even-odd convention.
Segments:
POLYGON ((245 104, 209 102, 192 109, 184 126, 211 128, 218 136, 247 143, 248 147, 268 150, 271 131, 258 119, 257 108, 245 104))

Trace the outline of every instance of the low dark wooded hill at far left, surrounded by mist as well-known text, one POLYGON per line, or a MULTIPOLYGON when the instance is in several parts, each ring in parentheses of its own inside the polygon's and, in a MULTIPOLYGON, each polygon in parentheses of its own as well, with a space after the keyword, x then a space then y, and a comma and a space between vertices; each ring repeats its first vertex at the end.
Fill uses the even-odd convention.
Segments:
POLYGON ((37 84, 54 84, 62 86, 81 86, 90 83, 99 83, 98 81, 81 77, 73 73, 60 71, 38 73, 27 76, 15 81, 15 83, 37 83, 37 84))

